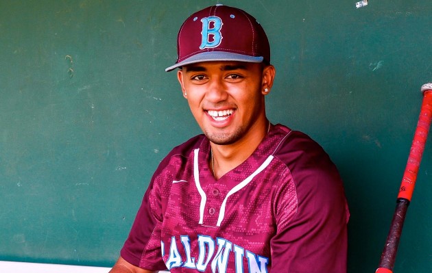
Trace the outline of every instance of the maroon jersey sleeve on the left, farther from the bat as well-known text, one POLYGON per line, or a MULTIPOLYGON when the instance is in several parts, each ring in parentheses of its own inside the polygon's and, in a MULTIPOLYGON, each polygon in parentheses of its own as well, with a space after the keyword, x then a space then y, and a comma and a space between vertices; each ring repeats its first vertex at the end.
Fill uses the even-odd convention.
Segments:
POLYGON ((153 271, 167 270, 161 249, 163 217, 172 185, 172 180, 167 175, 175 174, 183 168, 188 155, 204 139, 204 135, 197 135, 173 148, 154 172, 128 239, 120 252, 121 257, 132 265, 153 271))

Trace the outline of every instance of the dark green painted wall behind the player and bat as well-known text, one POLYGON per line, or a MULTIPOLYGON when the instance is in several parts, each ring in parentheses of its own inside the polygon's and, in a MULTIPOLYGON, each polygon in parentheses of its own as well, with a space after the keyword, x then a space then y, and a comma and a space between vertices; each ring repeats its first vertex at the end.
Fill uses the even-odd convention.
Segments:
MULTIPOLYGON (((174 73, 184 18, 216 1, 0 1, 0 259, 112 265, 158 162, 200 130, 174 73)), ((272 122, 337 164, 348 272, 374 272, 432 81, 432 2, 223 1, 267 29, 272 122)), ((432 140, 395 272, 432 272, 432 140)))

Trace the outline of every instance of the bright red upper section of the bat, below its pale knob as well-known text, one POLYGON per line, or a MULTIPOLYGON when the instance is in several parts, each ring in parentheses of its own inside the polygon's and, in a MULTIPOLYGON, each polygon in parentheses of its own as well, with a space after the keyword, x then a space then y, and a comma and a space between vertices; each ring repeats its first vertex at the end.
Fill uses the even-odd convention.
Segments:
POLYGON ((420 110, 420 117, 416 133, 414 133, 413 143, 411 144, 411 151, 409 152, 407 167, 403 174, 402 183, 400 184, 398 198, 405 198, 411 201, 414 186, 416 185, 418 168, 426 144, 429 128, 431 127, 432 120, 432 90, 424 91, 422 109, 420 110))

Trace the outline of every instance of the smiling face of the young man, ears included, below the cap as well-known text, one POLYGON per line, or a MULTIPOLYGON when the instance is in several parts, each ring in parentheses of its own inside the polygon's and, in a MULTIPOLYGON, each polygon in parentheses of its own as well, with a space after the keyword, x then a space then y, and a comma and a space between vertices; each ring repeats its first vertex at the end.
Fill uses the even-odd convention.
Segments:
POLYGON ((183 96, 214 144, 258 140, 267 131, 264 96, 274 67, 248 62, 201 62, 178 71, 183 96))

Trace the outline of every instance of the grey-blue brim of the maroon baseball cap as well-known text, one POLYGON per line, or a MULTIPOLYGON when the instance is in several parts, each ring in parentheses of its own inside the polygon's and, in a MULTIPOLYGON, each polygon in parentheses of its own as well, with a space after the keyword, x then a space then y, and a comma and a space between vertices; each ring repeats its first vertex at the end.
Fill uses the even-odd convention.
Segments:
POLYGON ((169 72, 175 68, 186 66, 187 64, 195 64, 197 62, 215 62, 215 61, 235 61, 235 62, 263 62, 264 57, 254 57, 237 53, 229 53, 224 51, 210 51, 193 55, 182 62, 169 66, 165 71, 169 72))

